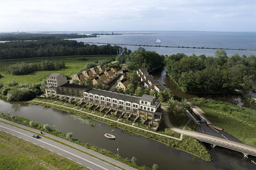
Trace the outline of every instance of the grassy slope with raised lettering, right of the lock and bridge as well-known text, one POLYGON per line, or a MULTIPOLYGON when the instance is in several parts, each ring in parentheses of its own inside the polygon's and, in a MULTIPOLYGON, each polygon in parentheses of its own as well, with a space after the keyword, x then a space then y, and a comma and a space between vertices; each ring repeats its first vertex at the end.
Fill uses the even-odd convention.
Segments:
POLYGON ((256 147, 256 110, 204 98, 190 99, 189 102, 197 102, 213 125, 256 147))

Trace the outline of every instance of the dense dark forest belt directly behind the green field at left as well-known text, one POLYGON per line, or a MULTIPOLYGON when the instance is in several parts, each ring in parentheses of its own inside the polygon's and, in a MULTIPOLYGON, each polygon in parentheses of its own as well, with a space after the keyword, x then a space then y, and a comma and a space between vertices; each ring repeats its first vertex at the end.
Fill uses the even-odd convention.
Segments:
POLYGON ((126 47, 90 45, 75 40, 10 41, 0 43, 0 60, 71 55, 129 55, 126 47))

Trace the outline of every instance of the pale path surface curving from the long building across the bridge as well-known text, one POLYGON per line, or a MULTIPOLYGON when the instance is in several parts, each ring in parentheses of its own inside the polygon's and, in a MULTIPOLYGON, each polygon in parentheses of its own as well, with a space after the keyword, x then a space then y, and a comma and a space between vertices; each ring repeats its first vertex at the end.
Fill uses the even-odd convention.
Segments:
POLYGON ((245 145, 243 143, 234 142, 234 141, 226 140, 226 139, 223 139, 223 138, 220 138, 220 137, 215 137, 215 136, 211 136, 211 135, 207 135, 207 134, 202 134, 202 133, 199 133, 199 132, 178 129, 174 125, 172 125, 171 120, 170 120, 170 116, 167 112, 167 108, 165 106, 161 106, 161 108, 167 113, 167 114, 164 114, 164 123, 172 131, 175 131, 175 132, 183 134, 183 135, 192 136, 194 138, 202 137, 202 138, 207 138, 209 140, 215 140, 215 141, 218 141, 218 142, 223 142, 223 143, 226 143, 228 145, 232 145, 234 147, 239 147, 239 148, 242 148, 242 149, 247 149, 249 151, 252 151, 252 152, 256 153, 256 148, 255 147, 245 145))

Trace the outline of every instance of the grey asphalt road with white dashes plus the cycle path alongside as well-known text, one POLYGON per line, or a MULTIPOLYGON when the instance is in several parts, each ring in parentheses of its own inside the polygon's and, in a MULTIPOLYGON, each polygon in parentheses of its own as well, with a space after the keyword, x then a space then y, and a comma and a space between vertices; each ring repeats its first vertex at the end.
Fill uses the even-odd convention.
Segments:
MULTIPOLYGON (((40 131, 37 130, 37 129, 29 128, 27 126, 20 125, 20 124, 17 124, 15 122, 5 120, 5 119, 1 119, 1 118, 0 118, 0 120, 5 121, 5 122, 10 123, 10 124, 13 124, 13 125, 16 125, 16 126, 19 126, 21 128, 24 128, 24 129, 28 129, 28 130, 37 132, 37 133, 40 134, 40 131)), ((119 169, 116 166, 110 165, 110 164, 108 164, 106 162, 103 162, 102 160, 99 160, 95 157, 106 160, 107 162, 110 162, 112 164, 115 164, 115 165, 117 165, 119 167, 122 167, 124 169, 127 169, 127 170, 137 170, 137 169, 135 169, 133 167, 130 167, 130 166, 124 164, 124 163, 121 163, 121 162, 119 162, 115 159, 112 159, 110 157, 102 155, 98 152, 92 151, 91 149, 88 149, 88 148, 83 147, 81 145, 76 145, 73 142, 70 142, 68 140, 64 140, 63 138, 59 138, 59 137, 56 137, 56 136, 51 135, 51 134, 44 133, 45 136, 48 136, 48 137, 53 138, 55 140, 58 140, 60 142, 66 143, 69 146, 78 148, 81 151, 84 151, 86 153, 94 155, 95 157, 92 157, 92 156, 87 155, 83 152, 77 151, 76 149, 73 149, 73 148, 70 148, 68 146, 62 145, 58 142, 55 142, 55 141, 50 140, 50 139, 45 138, 45 137, 41 137, 39 139, 33 138, 32 137, 33 133, 28 132, 28 131, 23 130, 23 129, 20 129, 20 128, 16 128, 15 126, 11 126, 11 125, 8 125, 8 124, 2 123, 2 122, 0 122, 0 130, 3 131, 3 132, 7 132, 8 134, 14 135, 16 137, 22 138, 23 140, 26 140, 28 142, 32 142, 35 145, 41 146, 45 149, 48 149, 49 151, 55 152, 55 153, 57 153, 57 154, 59 154, 63 157, 71 159, 74 162, 77 162, 77 163, 79 163, 79 164, 81 164, 85 167, 88 167, 89 169, 92 169, 92 170, 118 170, 119 169)))

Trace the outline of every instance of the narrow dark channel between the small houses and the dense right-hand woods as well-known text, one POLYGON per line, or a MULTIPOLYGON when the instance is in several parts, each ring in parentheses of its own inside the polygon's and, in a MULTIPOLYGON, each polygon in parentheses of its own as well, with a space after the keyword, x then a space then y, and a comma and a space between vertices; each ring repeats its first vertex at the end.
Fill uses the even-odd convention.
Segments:
POLYGON ((193 97, 204 97, 209 98, 213 100, 228 102, 231 104, 235 104, 238 106, 248 107, 252 109, 256 109, 256 104, 254 104, 252 101, 247 100, 246 98, 243 98, 239 95, 228 95, 228 94, 216 94, 216 95, 193 95, 193 94, 186 94, 181 89, 178 88, 178 86, 166 75, 166 72, 162 70, 161 72, 156 72, 153 74, 154 79, 158 79, 159 82, 165 83, 166 87, 174 91, 174 97, 177 100, 181 100, 182 98, 193 98, 193 97))

